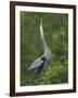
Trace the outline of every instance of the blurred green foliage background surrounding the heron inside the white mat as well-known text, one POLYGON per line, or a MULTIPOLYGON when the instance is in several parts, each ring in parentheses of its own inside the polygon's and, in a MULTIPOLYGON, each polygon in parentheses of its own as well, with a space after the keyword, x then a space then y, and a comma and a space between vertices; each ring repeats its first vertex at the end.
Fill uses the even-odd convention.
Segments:
POLYGON ((65 83, 68 83, 68 14, 21 11, 21 86, 65 83), (27 69, 43 53, 40 17, 52 60, 41 73, 35 74, 27 69))

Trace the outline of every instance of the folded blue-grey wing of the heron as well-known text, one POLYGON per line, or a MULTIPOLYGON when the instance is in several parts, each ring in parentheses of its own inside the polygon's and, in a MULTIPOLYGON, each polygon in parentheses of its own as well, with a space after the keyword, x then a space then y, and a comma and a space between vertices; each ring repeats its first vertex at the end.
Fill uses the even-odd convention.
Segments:
POLYGON ((39 68, 42 63, 43 63, 43 61, 41 60, 41 57, 40 57, 36 61, 34 61, 27 70, 35 70, 35 69, 39 68))

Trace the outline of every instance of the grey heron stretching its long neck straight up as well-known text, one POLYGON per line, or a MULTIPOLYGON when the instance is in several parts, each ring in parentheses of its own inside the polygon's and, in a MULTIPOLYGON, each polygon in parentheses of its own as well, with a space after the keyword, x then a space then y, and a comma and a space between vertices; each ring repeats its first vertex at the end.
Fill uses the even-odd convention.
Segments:
POLYGON ((40 38, 43 45, 43 53, 38 59, 36 59, 27 69, 27 71, 35 70, 36 73, 41 72, 46 68, 48 61, 51 59, 51 50, 48 47, 43 35, 42 17, 40 17, 39 29, 40 29, 40 38))

